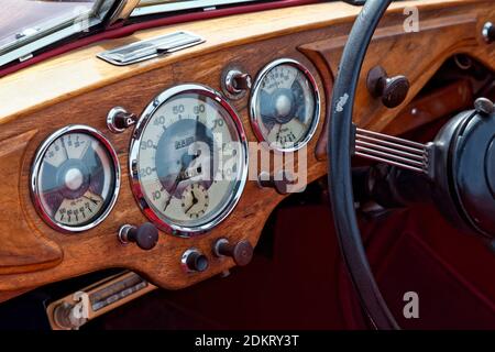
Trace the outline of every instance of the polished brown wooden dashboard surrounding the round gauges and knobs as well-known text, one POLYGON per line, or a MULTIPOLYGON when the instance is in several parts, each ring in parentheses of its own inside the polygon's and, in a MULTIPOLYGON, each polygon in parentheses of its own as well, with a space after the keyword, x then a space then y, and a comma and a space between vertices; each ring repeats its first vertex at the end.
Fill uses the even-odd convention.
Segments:
MULTIPOLYGON (((141 212, 129 183, 129 145, 132 131, 111 133, 106 124, 110 109, 122 106, 140 114, 161 91, 184 82, 198 82, 221 91, 221 74, 232 64, 251 76, 270 62, 288 57, 302 63, 316 77, 322 96, 321 119, 308 146, 308 182, 327 173, 324 106, 331 94, 342 47, 359 7, 341 2, 271 10, 138 32, 129 37, 91 45, 0 79, 0 301, 35 287, 108 268, 133 270, 152 283, 178 289, 234 265, 212 255, 219 238, 249 240, 255 245, 273 209, 284 199, 270 188, 249 180, 229 218, 210 232, 190 239, 161 233, 152 251, 122 245, 118 230, 141 224, 141 212), (136 40, 187 30, 206 42, 168 56, 125 67, 112 66, 97 54, 136 40), (38 145, 67 124, 87 124, 101 131, 118 153, 122 186, 116 207, 97 228, 64 234, 37 215, 30 195, 30 170, 38 145), (318 157, 317 157, 318 156, 318 157), (185 273, 183 253, 197 248, 210 266, 185 273)), ((495 45, 487 44, 482 28, 495 21, 493 0, 421 0, 392 6, 381 23, 359 87, 354 121, 376 131, 391 129, 394 118, 415 98, 447 58, 463 53, 495 69, 495 45), (419 32, 407 33, 404 9, 419 10, 419 32), (406 101, 386 109, 365 88, 371 67, 382 65, 391 75, 411 82, 406 101)), ((256 141, 249 118, 249 97, 232 100, 242 117, 249 141, 256 141)), ((402 122, 404 123, 404 122, 402 122)), ((393 129, 392 129, 393 130, 393 129)), ((304 235, 304 233, 301 234, 304 235)))

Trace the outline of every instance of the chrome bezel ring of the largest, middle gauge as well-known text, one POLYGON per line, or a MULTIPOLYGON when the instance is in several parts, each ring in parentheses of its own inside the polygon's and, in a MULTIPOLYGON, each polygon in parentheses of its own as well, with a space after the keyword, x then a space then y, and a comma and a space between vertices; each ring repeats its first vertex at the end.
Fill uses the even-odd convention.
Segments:
POLYGON ((161 92, 157 97, 155 97, 150 105, 144 109, 142 112, 138 124, 135 127, 132 140, 131 140, 131 146, 129 152, 129 169, 130 169, 130 178, 131 178, 131 186, 132 186, 132 193, 134 195, 134 198, 138 201, 138 205, 140 206, 143 213, 146 216, 147 219, 150 219, 153 223, 155 223, 162 231, 184 237, 184 238, 190 238, 194 235, 202 234, 205 232, 208 232, 209 230, 213 229, 218 224, 220 224, 235 208, 238 205, 241 195, 244 190, 244 186, 248 179, 248 165, 249 165, 249 150, 248 150, 248 139, 244 132, 244 128, 242 127, 241 119, 237 111, 232 108, 232 106, 221 96, 220 92, 217 90, 199 85, 199 84, 184 84, 179 86, 175 86, 172 88, 168 88, 161 92), (197 94, 202 95, 206 97, 209 97, 213 99, 216 102, 220 105, 221 108, 226 109, 230 118, 232 119, 240 143, 242 145, 242 151, 244 153, 243 155, 243 162, 242 162, 242 170, 240 172, 240 179, 238 183, 238 187, 235 188, 235 191, 233 193, 233 196, 229 199, 229 201, 223 205, 223 208, 221 209, 220 213, 212 220, 195 227, 186 227, 186 226, 179 226, 177 223, 174 223, 174 221, 166 221, 163 220, 162 217, 155 212, 153 207, 148 204, 146 197, 144 196, 144 189, 141 185, 140 174, 139 174, 139 154, 140 154, 140 145, 143 139, 144 131, 150 122, 150 120, 153 118, 155 112, 162 107, 164 103, 166 103, 169 99, 178 96, 178 95, 186 95, 186 94, 197 94))

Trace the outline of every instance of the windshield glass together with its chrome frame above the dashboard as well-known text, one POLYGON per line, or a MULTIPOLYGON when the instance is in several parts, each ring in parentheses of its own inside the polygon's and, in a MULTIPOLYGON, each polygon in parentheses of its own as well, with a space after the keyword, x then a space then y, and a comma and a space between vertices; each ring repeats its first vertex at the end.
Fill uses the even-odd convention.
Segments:
POLYGON ((207 11, 253 1, 262 0, 0 0, 0 69, 129 15, 207 11))

